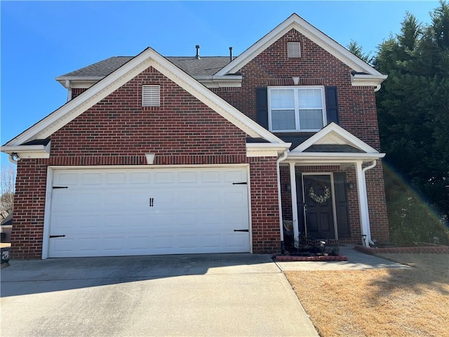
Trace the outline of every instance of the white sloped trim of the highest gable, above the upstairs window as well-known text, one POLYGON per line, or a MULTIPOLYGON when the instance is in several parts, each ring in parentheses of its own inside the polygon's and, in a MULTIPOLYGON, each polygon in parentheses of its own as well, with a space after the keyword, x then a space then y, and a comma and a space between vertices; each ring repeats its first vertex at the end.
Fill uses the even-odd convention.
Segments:
POLYGON ((300 18, 300 16, 296 13, 290 15, 290 17, 282 22, 281 25, 274 28, 271 32, 262 37, 262 39, 253 44, 253 46, 250 46, 250 48, 244 51, 232 62, 229 62, 226 67, 223 67, 215 75, 224 76, 226 74, 234 74, 238 72, 244 65, 250 62, 250 60, 253 60, 253 58, 262 53, 262 51, 271 46, 275 41, 280 39, 291 29, 296 29, 297 32, 300 32, 304 35, 304 37, 307 37, 324 50, 333 54, 336 58, 351 67, 351 69, 356 72, 363 72, 368 74, 368 76, 371 75, 374 77, 379 77, 381 82, 387 78, 386 75, 382 75, 366 62, 363 62, 346 48, 335 42, 333 39, 330 39, 330 37, 321 32, 319 29, 316 29, 314 26, 310 25, 309 22, 300 18))

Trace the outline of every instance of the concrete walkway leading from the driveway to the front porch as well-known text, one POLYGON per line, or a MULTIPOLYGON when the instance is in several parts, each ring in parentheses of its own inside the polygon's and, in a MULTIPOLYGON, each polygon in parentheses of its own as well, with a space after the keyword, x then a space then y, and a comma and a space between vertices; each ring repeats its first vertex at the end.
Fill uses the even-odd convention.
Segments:
POLYGON ((340 246, 340 255, 347 256, 347 261, 276 261, 283 272, 296 270, 366 270, 375 268, 410 268, 384 258, 361 253, 354 246, 340 246))

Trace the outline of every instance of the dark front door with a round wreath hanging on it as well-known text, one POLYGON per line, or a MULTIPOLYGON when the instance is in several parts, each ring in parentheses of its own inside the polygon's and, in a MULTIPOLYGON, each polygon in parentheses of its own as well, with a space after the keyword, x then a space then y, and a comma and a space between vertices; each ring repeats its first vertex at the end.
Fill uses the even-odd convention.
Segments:
POLYGON ((335 239, 330 175, 303 175, 305 225, 314 239, 335 239))

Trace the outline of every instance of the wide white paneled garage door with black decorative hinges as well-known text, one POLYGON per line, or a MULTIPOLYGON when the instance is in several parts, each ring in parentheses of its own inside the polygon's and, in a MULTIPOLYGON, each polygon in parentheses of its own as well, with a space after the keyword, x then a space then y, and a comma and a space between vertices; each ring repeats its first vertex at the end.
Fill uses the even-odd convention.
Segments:
POLYGON ((247 170, 55 169, 49 257, 250 251, 247 170))

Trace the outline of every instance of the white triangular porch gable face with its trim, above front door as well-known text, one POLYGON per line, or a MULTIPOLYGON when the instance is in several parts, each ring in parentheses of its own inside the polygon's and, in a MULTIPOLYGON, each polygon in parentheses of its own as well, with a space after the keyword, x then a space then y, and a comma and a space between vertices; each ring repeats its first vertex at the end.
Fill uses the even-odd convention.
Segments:
POLYGON ((305 140, 304 143, 301 143, 300 145, 295 147, 295 149, 292 150, 291 153, 297 154, 300 152, 304 152, 304 150, 307 150, 309 147, 311 147, 311 145, 314 144, 347 144, 369 154, 379 153, 379 151, 375 150, 375 148, 370 147, 370 145, 363 142, 363 140, 358 139, 352 133, 349 133, 348 131, 344 130, 344 128, 338 126, 333 122, 315 133, 314 136, 311 136, 309 139, 305 140))

